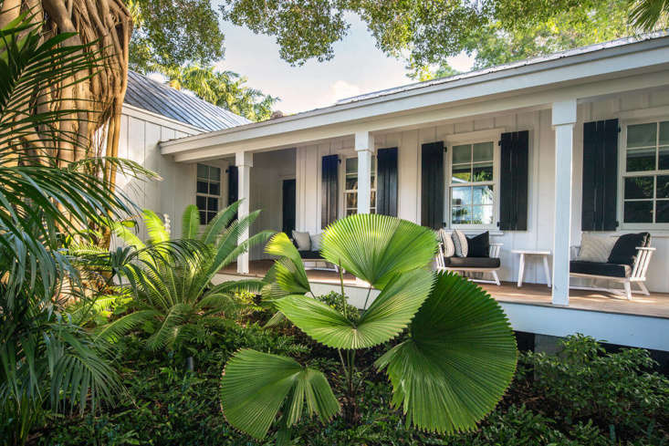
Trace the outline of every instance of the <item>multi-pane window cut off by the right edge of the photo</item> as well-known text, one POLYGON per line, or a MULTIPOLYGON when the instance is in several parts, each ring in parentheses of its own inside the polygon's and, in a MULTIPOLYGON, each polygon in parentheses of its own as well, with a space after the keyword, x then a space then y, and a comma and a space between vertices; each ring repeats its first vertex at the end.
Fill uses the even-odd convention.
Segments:
POLYGON ((622 221, 669 223, 669 121, 626 127, 622 221))

